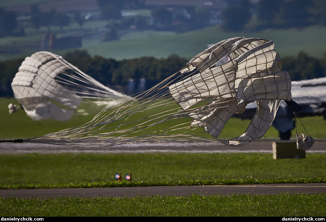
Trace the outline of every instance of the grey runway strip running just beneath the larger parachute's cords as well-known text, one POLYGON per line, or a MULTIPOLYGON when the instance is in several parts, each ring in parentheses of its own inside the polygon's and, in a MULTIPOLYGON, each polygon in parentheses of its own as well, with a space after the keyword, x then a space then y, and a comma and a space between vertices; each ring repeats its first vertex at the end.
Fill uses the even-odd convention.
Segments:
MULTIPOLYGON (((268 152, 272 153, 272 143, 279 141, 259 140, 244 146, 230 147, 212 142, 126 144, 108 147, 58 146, 40 143, 0 143, 0 154, 24 153, 142 153, 142 152, 191 152, 191 153, 225 153, 225 152, 268 152)), ((287 141, 295 142, 295 141, 287 141)), ((312 148, 306 151, 326 152, 326 140, 316 140, 312 148)))

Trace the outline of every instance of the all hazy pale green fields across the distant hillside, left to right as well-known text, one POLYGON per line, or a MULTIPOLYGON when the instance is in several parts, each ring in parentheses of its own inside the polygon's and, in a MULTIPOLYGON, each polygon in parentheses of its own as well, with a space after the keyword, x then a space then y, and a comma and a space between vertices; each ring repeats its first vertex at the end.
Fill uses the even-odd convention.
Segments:
MULTIPOLYGON (((86 30, 97 30, 105 27, 105 21, 87 22, 83 26, 86 30)), ((58 33, 58 37, 78 32, 77 23, 72 23, 69 27, 64 27, 63 32, 58 27, 52 30, 58 33)), ((46 32, 42 27, 38 33, 32 28, 27 28, 25 37, 3 37, 0 38, 0 60, 8 60, 17 57, 29 56, 37 51, 41 51, 40 39, 46 32)), ((326 53, 326 27, 308 27, 302 30, 266 30, 259 33, 238 32, 228 33, 221 30, 219 26, 209 27, 202 30, 175 34, 173 32, 159 32, 153 30, 141 32, 127 32, 121 36, 120 40, 101 42, 97 37, 87 37, 83 39, 83 47, 90 55, 115 58, 117 60, 137 58, 141 56, 154 56, 165 58, 172 54, 184 58, 192 58, 207 48, 208 44, 216 43, 230 37, 261 37, 272 40, 275 49, 281 57, 296 56, 298 52, 305 51, 310 56, 323 57, 326 53)), ((50 50, 58 55, 63 55, 67 50, 50 50)))

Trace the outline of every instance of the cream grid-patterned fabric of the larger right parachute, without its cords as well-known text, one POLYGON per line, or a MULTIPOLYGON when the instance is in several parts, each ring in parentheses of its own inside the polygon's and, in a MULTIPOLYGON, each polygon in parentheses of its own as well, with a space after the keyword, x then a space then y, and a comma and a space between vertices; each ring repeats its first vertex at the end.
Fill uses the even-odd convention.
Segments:
POLYGON ((280 100, 291 99, 289 75, 281 71, 282 61, 273 46, 272 41, 263 39, 233 38, 212 46, 211 53, 193 59, 200 64, 198 73, 169 87, 184 110, 201 100, 212 99, 190 114, 194 118, 192 126, 202 126, 217 138, 233 114, 257 101, 257 111, 246 132, 223 142, 238 145, 262 137, 275 118, 280 100), (221 56, 228 58, 226 63, 214 67, 221 56), (203 69, 205 66, 208 67, 203 69))

